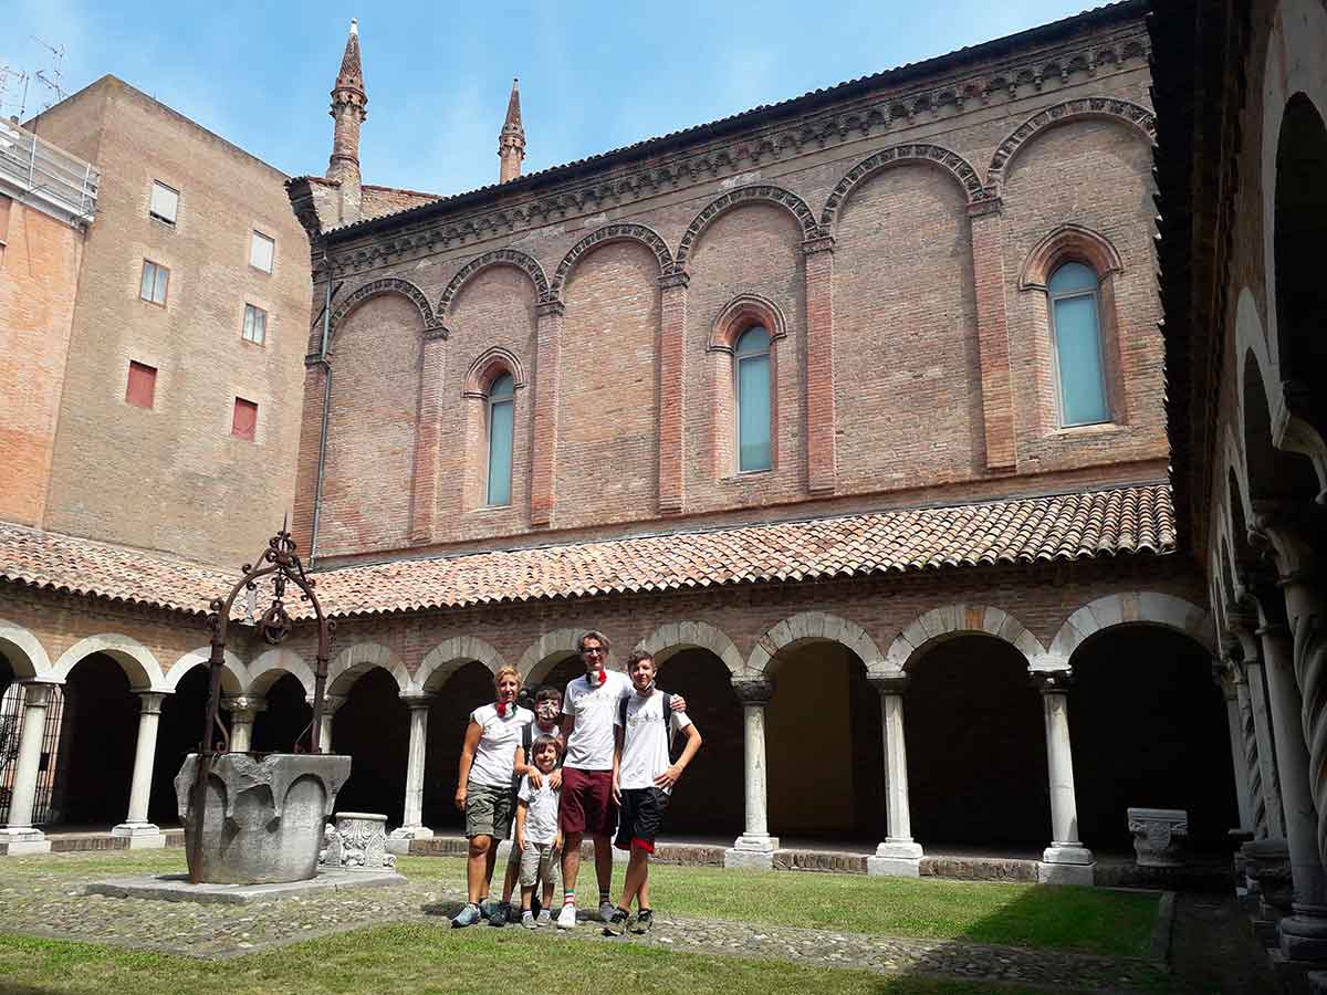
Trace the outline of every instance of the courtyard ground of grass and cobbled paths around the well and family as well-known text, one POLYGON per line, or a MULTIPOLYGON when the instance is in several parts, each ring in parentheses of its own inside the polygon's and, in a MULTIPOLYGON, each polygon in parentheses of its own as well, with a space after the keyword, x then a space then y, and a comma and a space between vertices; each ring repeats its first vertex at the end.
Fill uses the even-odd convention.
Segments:
POLYGON ((11 857, 0 988, 479 992, 500 974, 565 992, 624 978, 738 995, 1263 990, 1255 949, 1216 896, 661 865, 653 933, 609 939, 596 923, 451 930, 462 861, 398 868, 409 881, 395 888, 199 905, 84 894, 94 880, 182 873, 182 849, 11 857))

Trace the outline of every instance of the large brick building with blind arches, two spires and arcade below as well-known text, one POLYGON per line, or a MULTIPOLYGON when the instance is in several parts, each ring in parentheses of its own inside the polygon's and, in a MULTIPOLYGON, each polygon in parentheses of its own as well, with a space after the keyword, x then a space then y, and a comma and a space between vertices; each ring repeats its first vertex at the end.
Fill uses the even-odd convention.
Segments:
MULTIPOLYGON (((561 683, 597 628, 691 702, 673 828, 736 837, 730 862, 995 846, 1091 881, 1137 804, 1220 845, 1231 714, 1173 555, 1148 54, 1129 1, 528 175, 514 88, 502 182, 437 198, 362 182, 352 28, 326 175, 288 184, 338 804, 415 845, 455 827, 491 669, 561 683)), ((54 532, 0 536, 16 673, 96 649, 174 691, 163 722, 196 714, 226 577, 54 532)), ((234 647, 239 742, 300 736, 308 639, 234 647)), ((153 751, 169 777, 187 748, 147 735, 145 795, 153 751)))

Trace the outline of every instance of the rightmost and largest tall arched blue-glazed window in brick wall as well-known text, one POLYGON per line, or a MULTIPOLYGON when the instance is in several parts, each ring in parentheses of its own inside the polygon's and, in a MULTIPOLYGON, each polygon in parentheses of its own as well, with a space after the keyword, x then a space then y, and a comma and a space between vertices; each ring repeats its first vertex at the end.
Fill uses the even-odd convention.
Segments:
POLYGON ((1060 381, 1060 423, 1108 422, 1096 273, 1082 263, 1066 263, 1051 275, 1047 289, 1060 381))

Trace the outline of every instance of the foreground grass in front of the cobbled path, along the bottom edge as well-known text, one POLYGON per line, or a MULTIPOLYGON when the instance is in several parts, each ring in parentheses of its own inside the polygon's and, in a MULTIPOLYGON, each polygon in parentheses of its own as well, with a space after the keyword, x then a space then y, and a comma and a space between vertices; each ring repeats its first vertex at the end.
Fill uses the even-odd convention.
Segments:
POLYGON ((192 995, 219 991, 308 995, 413 991, 491 995, 548 988, 559 995, 605 991, 723 991, 725 995, 1015 995, 991 982, 821 970, 774 961, 705 957, 612 943, 548 943, 512 930, 453 933, 394 925, 314 939, 224 962, 141 954, 94 943, 0 935, 0 990, 11 995, 96 992, 192 995))

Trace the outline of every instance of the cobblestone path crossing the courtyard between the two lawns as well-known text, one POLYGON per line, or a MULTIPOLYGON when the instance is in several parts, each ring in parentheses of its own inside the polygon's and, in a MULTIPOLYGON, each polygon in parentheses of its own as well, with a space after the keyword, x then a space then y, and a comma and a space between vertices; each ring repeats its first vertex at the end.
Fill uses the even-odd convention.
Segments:
MULTIPOLYGON (((162 856, 161 872, 179 857, 162 856)), ((138 869, 138 868, 135 868, 138 869)), ((84 939, 188 957, 227 958, 387 922, 435 922, 459 909, 459 880, 415 876, 390 889, 340 890, 264 905, 195 905, 84 894, 85 881, 115 873, 105 854, 12 860, 0 880, 4 931, 84 939)), ((407 876, 411 869, 406 869, 407 876)), ((472 930, 491 930, 487 923, 472 930)), ((520 930, 519 925, 507 929, 520 930)), ((661 914, 645 938, 606 938, 598 923, 540 930, 549 943, 648 943, 880 972, 1019 982, 1052 991, 1154 990, 1162 968, 1145 959, 1091 957, 955 941, 906 939, 661 914)))

